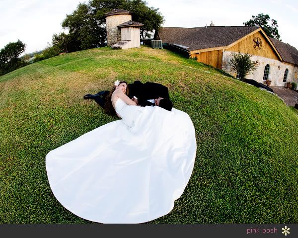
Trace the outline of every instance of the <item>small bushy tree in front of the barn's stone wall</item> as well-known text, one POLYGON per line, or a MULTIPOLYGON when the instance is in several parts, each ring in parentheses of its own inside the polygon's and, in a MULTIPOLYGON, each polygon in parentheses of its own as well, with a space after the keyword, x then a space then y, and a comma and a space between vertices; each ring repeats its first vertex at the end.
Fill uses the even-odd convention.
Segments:
POLYGON ((256 62, 250 59, 251 55, 248 53, 232 53, 232 56, 233 58, 230 60, 229 65, 239 74, 241 81, 245 79, 245 76, 256 70, 256 62))

